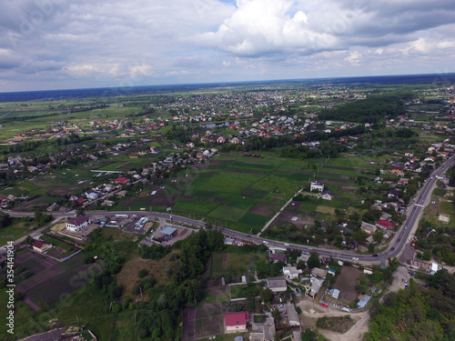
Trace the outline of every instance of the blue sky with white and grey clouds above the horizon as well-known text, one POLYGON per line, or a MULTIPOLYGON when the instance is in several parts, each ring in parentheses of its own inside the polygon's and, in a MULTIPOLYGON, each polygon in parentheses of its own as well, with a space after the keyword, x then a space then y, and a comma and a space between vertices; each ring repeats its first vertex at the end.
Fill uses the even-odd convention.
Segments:
POLYGON ((455 72, 450 0, 2 0, 0 92, 455 72))

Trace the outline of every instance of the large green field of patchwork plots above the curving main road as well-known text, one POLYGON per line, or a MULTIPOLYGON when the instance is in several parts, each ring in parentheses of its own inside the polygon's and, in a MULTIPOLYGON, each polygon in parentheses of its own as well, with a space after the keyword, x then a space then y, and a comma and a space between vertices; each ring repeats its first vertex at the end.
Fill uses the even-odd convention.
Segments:
POLYGON ((218 155, 119 206, 154 211, 172 207, 177 215, 206 216, 210 224, 255 233, 308 180, 300 166, 298 160, 276 156, 218 155))

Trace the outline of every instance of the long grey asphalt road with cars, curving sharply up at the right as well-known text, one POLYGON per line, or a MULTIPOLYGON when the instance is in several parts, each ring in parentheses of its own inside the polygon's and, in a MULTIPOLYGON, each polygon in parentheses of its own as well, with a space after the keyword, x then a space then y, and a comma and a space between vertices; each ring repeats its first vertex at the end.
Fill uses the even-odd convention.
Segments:
MULTIPOLYGON (((430 178, 427 179, 425 182, 424 186, 420 189, 420 192, 416 196, 417 199, 416 201, 410 205, 409 210, 408 210, 408 216, 403 224, 403 227, 400 228, 399 232, 396 234, 396 236, 393 237, 391 243, 389 244, 389 249, 383 251, 382 253, 378 254, 378 256, 372 256, 372 255, 358 255, 353 252, 348 252, 348 251, 341 251, 338 249, 332 249, 332 248, 326 248, 326 247, 314 247, 314 246, 301 246, 298 244, 292 244, 292 243, 283 243, 283 242, 278 242, 274 240, 268 240, 266 238, 261 238, 259 236, 253 236, 253 235, 247 235, 238 231, 230 230, 221 226, 214 226, 214 228, 217 228, 220 230, 225 236, 230 236, 233 238, 238 238, 242 239, 245 241, 251 241, 252 243, 256 244, 265 244, 267 246, 278 246, 278 247, 283 247, 283 248, 291 248, 291 249, 297 249, 301 251, 306 251, 306 252, 312 252, 312 251, 317 251, 320 256, 327 256, 327 257, 333 257, 337 258, 340 260, 349 260, 349 261, 354 261, 357 263, 361 264, 379 264, 381 259, 388 258, 388 257, 394 257, 394 256, 399 256, 401 252, 405 249, 405 246, 409 245, 409 239, 411 234, 414 233, 414 231, 418 227, 418 222, 420 219, 420 215, 425 208, 430 203, 430 197, 431 197, 431 192, 433 186, 436 185, 437 178, 436 176, 442 176, 445 171, 450 167, 450 165, 455 162, 455 155, 452 155, 449 160, 447 160, 443 165, 440 166, 437 170, 435 170, 430 178)), ((21 212, 14 212, 14 211, 7 211, 7 213, 10 216, 33 216, 33 214, 30 213, 21 213, 21 212)), ((106 214, 106 215, 116 215, 116 214, 126 214, 125 211, 119 211, 119 212, 86 212, 86 216, 100 216, 101 214, 106 214)), ((198 226, 198 227, 206 227, 206 223, 202 222, 200 220, 195 220, 195 219, 190 219, 185 216, 175 216, 175 215, 170 215, 167 213, 158 213, 158 212, 149 212, 149 211, 128 211, 128 215, 137 215, 137 216, 148 216, 150 218, 154 217, 160 217, 160 218, 165 218, 170 220, 172 216, 172 222, 173 223, 180 223, 180 224, 185 224, 189 226, 198 226)), ((53 215, 56 219, 61 219, 64 217, 72 217, 75 216, 75 212, 71 211, 66 214, 62 213, 57 213, 53 215)), ((45 228, 45 227, 43 227, 45 228)), ((40 228, 43 229, 43 228, 40 228)), ((35 235, 39 230, 33 231, 33 233, 30 234, 30 236, 35 235)), ((18 239, 16 242, 22 241, 25 239, 26 236, 18 239)), ((409 248, 409 246, 407 247, 409 248)))

